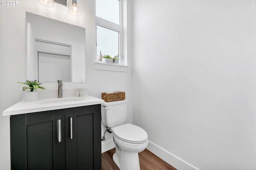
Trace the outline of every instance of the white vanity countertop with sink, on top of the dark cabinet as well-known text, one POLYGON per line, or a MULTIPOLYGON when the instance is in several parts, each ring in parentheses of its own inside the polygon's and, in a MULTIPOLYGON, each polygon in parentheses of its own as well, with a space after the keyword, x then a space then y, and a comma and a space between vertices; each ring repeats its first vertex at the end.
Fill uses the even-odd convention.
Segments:
POLYGON ((89 106, 102 104, 104 100, 92 96, 50 98, 36 101, 20 101, 3 111, 3 116, 33 113, 38 111, 48 111, 65 109, 70 107, 89 106))

